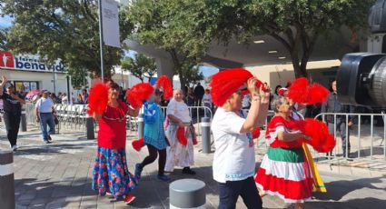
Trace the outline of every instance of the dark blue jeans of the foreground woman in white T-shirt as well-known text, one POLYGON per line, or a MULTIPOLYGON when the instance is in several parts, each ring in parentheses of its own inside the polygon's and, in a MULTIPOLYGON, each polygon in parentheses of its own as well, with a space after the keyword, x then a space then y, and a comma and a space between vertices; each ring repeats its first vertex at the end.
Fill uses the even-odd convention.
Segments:
POLYGON ((242 200, 248 208, 262 208, 262 198, 257 191, 252 176, 242 181, 227 181, 225 184, 218 184, 220 193, 219 209, 236 208, 239 195, 242 196, 242 200))

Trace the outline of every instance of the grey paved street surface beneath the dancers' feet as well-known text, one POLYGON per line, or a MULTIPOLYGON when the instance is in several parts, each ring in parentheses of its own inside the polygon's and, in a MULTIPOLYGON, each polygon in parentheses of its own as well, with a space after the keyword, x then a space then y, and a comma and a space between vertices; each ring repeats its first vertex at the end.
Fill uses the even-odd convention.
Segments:
MULTIPOLYGON (((134 194, 137 199, 132 206, 114 202, 108 197, 100 197, 91 190, 92 169, 94 166, 95 140, 86 140, 84 133, 62 131, 54 135, 53 144, 44 144, 36 128, 20 133, 15 152, 15 200, 17 208, 169 208, 168 186, 156 179, 157 163, 144 168, 144 177, 134 194)), ((134 151, 128 136, 127 160, 129 170, 134 172, 134 164, 142 161, 147 154, 143 149, 134 151)), ((259 142, 258 147, 262 146, 259 142)), ((8 148, 4 130, 0 130, 0 149, 8 148)), ((201 154, 195 149, 195 166, 197 175, 182 174, 176 169, 173 180, 193 177, 201 179, 206 186, 207 208, 217 208, 217 185, 212 178, 213 154, 201 154)), ((262 158, 257 148, 256 158, 262 158)), ((329 190, 327 194, 315 194, 307 208, 384 208, 386 205, 386 172, 356 168, 352 170, 343 165, 320 163, 322 178, 329 190), (349 173, 334 172, 333 169, 350 169, 349 173), (332 170, 331 170, 332 169, 332 170), (368 171, 368 172, 367 172, 368 171)), ((284 208, 288 205, 276 197, 265 196, 266 208, 284 208)), ((1 206, 0 206, 1 208, 1 206)), ((245 208, 239 199, 237 208, 245 208)))

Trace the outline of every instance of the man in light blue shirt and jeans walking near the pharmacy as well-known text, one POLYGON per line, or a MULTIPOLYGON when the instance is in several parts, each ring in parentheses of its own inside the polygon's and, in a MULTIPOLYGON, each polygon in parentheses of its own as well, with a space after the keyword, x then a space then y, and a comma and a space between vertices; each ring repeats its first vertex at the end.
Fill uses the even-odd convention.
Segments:
POLYGON ((42 130, 43 140, 46 144, 52 142, 51 134, 54 134, 54 102, 48 97, 48 91, 42 91, 42 97, 36 102, 35 114, 36 122, 40 123, 42 130), (49 131, 47 132, 47 124, 49 131))

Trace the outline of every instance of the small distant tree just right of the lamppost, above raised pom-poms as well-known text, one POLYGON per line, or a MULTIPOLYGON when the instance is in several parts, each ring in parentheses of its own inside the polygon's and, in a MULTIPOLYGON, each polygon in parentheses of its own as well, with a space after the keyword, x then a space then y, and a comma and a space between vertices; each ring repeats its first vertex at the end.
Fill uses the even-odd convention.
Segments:
POLYGON ((139 78, 144 83, 144 77, 150 78, 157 73, 155 60, 143 54, 135 54, 135 57, 124 57, 121 65, 125 71, 130 71, 135 77, 139 78))

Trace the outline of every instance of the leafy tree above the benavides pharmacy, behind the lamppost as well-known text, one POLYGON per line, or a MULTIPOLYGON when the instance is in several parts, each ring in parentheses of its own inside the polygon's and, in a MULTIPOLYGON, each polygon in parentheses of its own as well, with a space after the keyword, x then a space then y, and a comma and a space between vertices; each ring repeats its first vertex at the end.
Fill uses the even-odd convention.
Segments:
MULTIPOLYGON (((96 0, 0 0, 2 15, 15 17, 5 31, 6 47, 15 53, 41 55, 46 62, 61 58, 72 69, 100 75, 99 25, 96 0)), ((133 29, 121 8, 121 41, 133 29)), ((104 46, 105 75, 118 65, 123 50, 104 46)))

